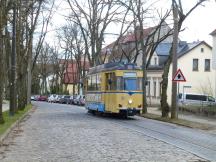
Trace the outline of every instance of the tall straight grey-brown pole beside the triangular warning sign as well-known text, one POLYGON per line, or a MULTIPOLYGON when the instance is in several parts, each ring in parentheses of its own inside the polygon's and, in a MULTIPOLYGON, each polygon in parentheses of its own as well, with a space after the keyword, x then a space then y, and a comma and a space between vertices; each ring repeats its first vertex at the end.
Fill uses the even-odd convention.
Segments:
MULTIPOLYGON (((174 19, 174 33, 173 33, 173 48, 172 48, 172 77, 176 74, 177 71, 177 48, 178 48, 178 8, 175 0, 172 0, 173 7, 173 19, 174 19)), ((177 114, 177 83, 172 82, 172 104, 171 104, 171 118, 178 118, 177 114)))

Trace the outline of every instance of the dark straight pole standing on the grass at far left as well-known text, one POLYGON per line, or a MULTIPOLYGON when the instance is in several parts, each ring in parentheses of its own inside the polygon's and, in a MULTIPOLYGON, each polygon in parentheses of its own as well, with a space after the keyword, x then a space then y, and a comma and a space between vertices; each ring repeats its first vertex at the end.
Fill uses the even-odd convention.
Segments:
POLYGON ((10 115, 13 116, 17 107, 16 95, 16 1, 13 2, 13 36, 11 52, 11 75, 10 75, 10 115))

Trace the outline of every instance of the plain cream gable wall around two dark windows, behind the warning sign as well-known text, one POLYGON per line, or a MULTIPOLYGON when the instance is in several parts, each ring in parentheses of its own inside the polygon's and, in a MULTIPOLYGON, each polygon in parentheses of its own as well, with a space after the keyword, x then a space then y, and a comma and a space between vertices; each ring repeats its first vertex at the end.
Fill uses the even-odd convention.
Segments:
MULTIPOLYGON (((205 44, 201 44, 191 50, 189 53, 183 55, 178 59, 178 68, 181 69, 186 78, 186 82, 180 82, 179 92, 183 92, 183 86, 191 86, 191 88, 184 88, 185 93, 208 94, 216 97, 215 84, 216 72, 210 66, 210 71, 205 71, 205 59, 210 59, 212 62, 212 50, 205 44), (201 48, 204 52, 201 52, 201 48), (198 71, 193 71, 193 59, 198 59, 198 71)), ((171 89, 172 89, 172 64, 169 71, 168 82, 168 103, 171 103, 171 89)))

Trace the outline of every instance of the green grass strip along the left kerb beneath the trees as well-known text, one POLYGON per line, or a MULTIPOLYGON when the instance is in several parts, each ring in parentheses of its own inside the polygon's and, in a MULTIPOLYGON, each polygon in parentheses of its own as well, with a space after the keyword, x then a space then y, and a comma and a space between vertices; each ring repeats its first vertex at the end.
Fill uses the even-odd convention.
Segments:
POLYGON ((17 120, 19 120, 26 112, 32 108, 32 105, 29 104, 25 107, 24 110, 18 111, 14 116, 9 116, 9 111, 3 112, 4 124, 0 124, 0 136, 4 134, 8 128, 12 126, 17 120))

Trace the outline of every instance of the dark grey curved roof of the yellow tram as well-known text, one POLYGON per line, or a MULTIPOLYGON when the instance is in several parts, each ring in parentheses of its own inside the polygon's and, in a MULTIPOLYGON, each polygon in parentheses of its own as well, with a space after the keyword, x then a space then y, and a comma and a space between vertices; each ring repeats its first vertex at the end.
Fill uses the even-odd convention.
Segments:
POLYGON ((133 63, 123 64, 118 62, 111 62, 111 63, 106 63, 106 64, 102 64, 90 68, 88 74, 94 74, 102 71, 112 71, 112 70, 141 70, 141 68, 133 63))

